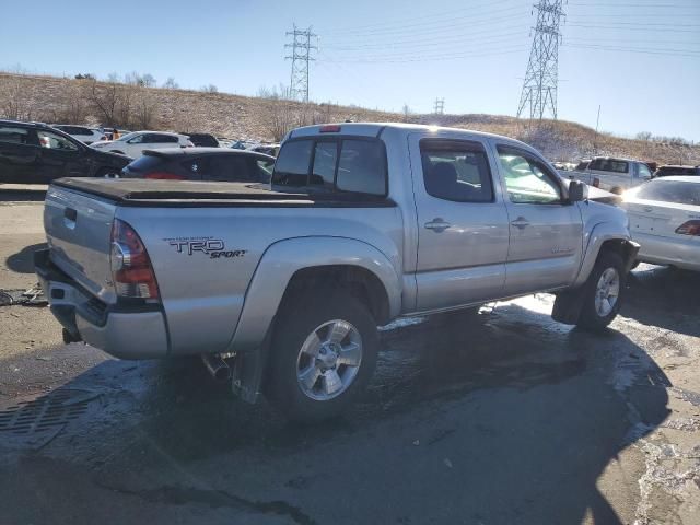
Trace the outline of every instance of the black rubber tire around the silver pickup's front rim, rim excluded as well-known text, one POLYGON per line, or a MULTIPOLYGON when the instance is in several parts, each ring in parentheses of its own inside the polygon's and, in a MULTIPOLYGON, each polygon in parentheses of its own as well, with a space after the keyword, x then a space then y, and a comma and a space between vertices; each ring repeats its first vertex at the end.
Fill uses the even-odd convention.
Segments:
POLYGON ((583 285, 581 293, 584 294, 583 307, 581 308, 581 315, 576 325, 581 328, 591 331, 604 330, 617 316, 625 298, 627 287, 627 275, 625 273, 625 261, 622 257, 614 252, 602 252, 598 255, 593 271, 588 276, 585 284, 583 285), (600 280, 600 276, 608 268, 614 268, 617 271, 619 278, 619 293, 617 301, 615 302, 612 310, 607 315, 602 315, 596 310, 596 287, 600 280))

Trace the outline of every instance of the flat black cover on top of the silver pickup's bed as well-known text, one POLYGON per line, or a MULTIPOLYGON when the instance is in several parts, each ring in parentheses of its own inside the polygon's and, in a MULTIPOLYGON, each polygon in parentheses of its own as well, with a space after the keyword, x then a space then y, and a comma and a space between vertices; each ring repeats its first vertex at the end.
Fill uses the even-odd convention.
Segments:
POLYGON ((324 191, 280 191, 262 184, 71 177, 55 186, 94 195, 122 207, 392 207, 388 198, 324 191))

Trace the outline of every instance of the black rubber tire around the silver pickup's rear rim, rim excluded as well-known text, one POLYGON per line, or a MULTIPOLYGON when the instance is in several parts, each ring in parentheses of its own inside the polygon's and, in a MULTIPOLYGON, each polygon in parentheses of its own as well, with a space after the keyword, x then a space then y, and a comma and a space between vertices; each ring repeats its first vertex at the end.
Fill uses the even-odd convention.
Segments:
MULTIPOLYGON (((323 291, 287 301, 272 335, 266 388, 270 401, 285 417, 295 421, 320 421, 339 416, 370 382, 378 347, 374 317, 350 292, 323 291), (300 351, 317 327, 335 319, 345 320, 357 328, 361 337, 362 358, 354 378, 345 390, 331 399, 317 400, 307 396, 300 385, 300 351)), ((325 378, 319 377, 318 381, 325 378)))

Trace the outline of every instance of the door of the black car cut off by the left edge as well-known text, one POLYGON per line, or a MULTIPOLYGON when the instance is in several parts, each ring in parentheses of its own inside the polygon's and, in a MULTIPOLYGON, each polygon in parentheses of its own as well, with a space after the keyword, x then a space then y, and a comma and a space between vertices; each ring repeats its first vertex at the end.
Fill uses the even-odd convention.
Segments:
POLYGON ((37 183, 38 160, 38 140, 33 128, 0 125, 0 183, 37 183))

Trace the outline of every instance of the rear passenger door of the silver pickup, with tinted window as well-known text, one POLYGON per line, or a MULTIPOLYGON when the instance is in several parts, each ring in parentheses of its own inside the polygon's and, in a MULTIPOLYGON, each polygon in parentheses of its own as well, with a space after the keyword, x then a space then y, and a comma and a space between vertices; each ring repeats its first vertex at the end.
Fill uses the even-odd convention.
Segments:
POLYGON ((417 310, 500 296, 508 213, 483 143, 416 133, 409 148, 419 232, 417 310))

